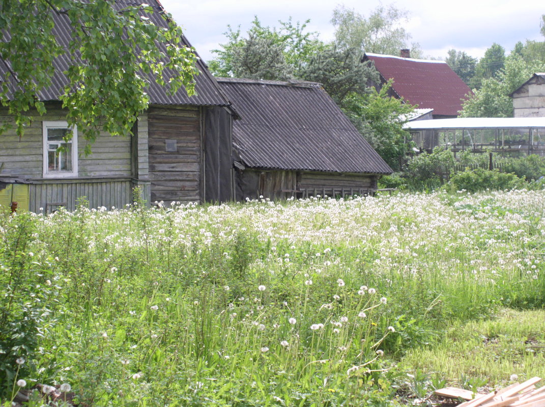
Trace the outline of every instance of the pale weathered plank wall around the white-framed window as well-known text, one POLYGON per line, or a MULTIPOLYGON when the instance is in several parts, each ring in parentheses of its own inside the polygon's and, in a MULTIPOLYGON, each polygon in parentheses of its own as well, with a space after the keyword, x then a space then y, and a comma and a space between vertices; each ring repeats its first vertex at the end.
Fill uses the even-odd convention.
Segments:
MULTIPOLYGON (((84 154, 86 140, 78 132, 78 175, 69 178, 43 178, 42 122, 65 121, 65 112, 51 104, 46 115, 31 114, 31 125, 21 139, 14 129, 0 137, 0 180, 28 184, 29 210, 52 211, 58 206, 73 210, 83 196, 92 208, 123 207, 132 202, 135 186, 141 187, 143 198, 149 201, 146 114, 135 127, 139 137, 111 137, 102 132, 89 156, 84 154)), ((0 120, 10 119, 5 111, 0 112, 0 120)))

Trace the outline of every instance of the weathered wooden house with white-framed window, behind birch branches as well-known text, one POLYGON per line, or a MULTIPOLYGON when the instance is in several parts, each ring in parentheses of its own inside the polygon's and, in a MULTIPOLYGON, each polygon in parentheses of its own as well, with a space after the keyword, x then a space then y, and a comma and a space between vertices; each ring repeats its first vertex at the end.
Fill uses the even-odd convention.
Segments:
MULTIPOLYGON (((132 4, 117 0, 117 5, 132 4)), ((156 0, 148 2, 164 13, 156 0)), ((157 26, 165 21, 149 15, 157 26)), ((55 15, 56 35, 67 44, 68 22, 55 15)), ((189 45, 181 38, 181 45, 189 45)), ((90 207, 122 207, 132 202, 132 189, 154 201, 226 201, 233 199, 230 102, 207 67, 198 62, 196 95, 181 89, 174 95, 152 81, 147 89, 149 108, 138 118, 134 137, 111 137, 103 132, 85 156, 86 141, 73 129, 69 143, 65 112, 59 95, 66 79, 65 60, 57 58, 53 86, 38 95, 47 113, 33 115, 19 139, 14 130, 0 137, 0 204, 19 202, 19 208, 50 212, 63 206, 72 210, 85 196, 90 207), (58 153, 59 144, 66 144, 58 153)), ((2 62, 2 61, 0 61, 2 62)), ((0 64, 0 75, 6 64, 0 64)), ((0 77, 1 79, 1 77, 0 77)), ((6 111, 2 121, 9 121, 6 111)))

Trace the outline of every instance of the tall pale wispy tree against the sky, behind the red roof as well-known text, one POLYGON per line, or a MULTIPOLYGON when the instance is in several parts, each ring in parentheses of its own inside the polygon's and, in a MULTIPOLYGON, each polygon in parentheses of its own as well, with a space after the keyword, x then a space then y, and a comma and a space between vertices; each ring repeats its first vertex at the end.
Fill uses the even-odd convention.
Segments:
MULTIPOLYGON (((403 23, 407 21, 408 12, 393 5, 379 5, 368 18, 354 9, 338 6, 331 18, 331 23, 336 27, 335 42, 339 48, 391 55, 397 55, 399 50, 407 48, 410 35, 403 28, 403 23)), ((413 54, 418 56, 415 50, 413 54)))

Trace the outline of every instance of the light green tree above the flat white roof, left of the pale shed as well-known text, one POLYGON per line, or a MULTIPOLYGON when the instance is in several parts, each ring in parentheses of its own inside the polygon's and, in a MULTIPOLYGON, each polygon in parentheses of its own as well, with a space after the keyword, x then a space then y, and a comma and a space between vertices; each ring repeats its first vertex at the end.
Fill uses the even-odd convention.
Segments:
POLYGON ((543 72, 545 63, 536 61, 527 64, 517 53, 505 59, 505 66, 495 77, 484 79, 482 87, 464 101, 462 117, 506 118, 513 116, 511 92, 516 90, 534 74, 543 72))

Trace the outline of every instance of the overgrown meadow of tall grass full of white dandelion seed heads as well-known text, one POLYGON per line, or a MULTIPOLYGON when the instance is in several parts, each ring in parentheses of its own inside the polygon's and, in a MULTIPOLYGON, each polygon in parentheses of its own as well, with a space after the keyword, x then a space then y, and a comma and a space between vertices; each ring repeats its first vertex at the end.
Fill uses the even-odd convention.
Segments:
POLYGON ((1 398, 64 384, 93 406, 395 404, 407 350, 543 306, 544 201, 3 212, 1 398))

